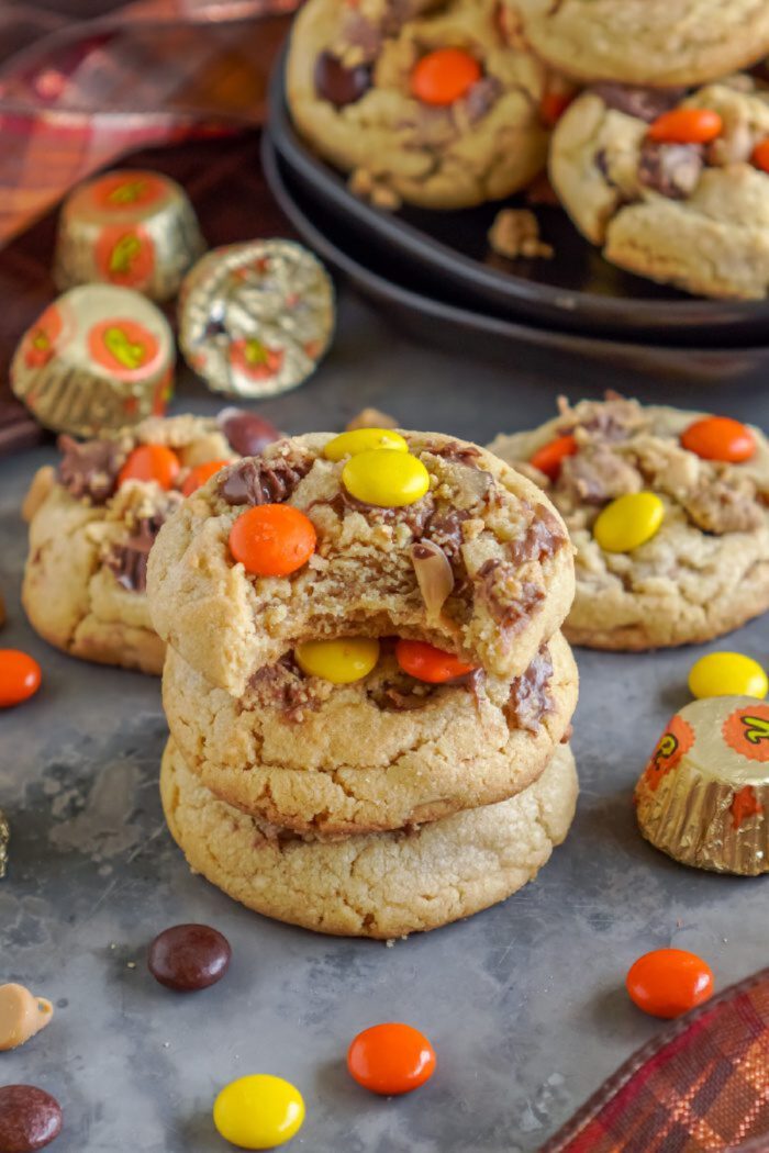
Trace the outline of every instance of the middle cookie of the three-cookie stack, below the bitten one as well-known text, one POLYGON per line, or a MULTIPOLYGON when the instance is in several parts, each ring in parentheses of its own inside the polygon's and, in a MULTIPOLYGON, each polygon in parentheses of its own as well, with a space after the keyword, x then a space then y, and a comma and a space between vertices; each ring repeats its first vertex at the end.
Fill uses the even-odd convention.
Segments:
POLYGON ((392 653, 354 685, 269 666, 241 699, 212 688, 173 649, 163 678, 172 737, 211 792, 326 839, 514 796, 567 733, 576 692, 559 634, 512 686, 488 677, 425 685, 392 653))

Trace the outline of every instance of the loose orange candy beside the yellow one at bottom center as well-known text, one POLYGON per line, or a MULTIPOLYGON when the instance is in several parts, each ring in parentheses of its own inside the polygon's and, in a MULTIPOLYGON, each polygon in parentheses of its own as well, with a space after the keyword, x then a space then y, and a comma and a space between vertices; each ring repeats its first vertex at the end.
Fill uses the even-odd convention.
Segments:
POLYGON ((382 1097, 410 1093, 436 1069, 435 1049, 419 1028, 387 1023, 364 1028, 347 1050, 350 1077, 382 1097))

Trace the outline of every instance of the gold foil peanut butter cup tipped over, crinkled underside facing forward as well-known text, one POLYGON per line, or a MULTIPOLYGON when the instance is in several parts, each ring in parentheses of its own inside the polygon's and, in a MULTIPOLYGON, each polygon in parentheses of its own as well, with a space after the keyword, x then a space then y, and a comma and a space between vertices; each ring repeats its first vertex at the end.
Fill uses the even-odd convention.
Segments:
POLYGON ((331 342, 334 292, 321 262, 289 240, 208 253, 179 296, 179 344, 213 392, 273 397, 310 376, 331 342))

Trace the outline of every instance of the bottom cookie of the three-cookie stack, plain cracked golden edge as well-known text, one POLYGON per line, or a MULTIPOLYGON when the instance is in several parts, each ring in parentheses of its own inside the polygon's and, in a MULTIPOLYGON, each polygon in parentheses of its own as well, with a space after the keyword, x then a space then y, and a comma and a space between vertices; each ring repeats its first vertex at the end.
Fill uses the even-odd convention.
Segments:
POLYGON ((218 800, 166 746, 160 792, 190 867, 249 909, 319 933, 389 939, 505 900, 566 837, 578 781, 568 746, 512 800, 415 831, 286 837, 218 800))

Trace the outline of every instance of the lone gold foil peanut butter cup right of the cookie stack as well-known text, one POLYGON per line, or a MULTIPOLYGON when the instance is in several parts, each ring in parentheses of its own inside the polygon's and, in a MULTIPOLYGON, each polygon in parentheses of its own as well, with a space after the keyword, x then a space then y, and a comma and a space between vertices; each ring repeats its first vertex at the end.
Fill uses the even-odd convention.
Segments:
POLYGON ((694 868, 769 872, 769 704, 711 696, 677 713, 635 786, 656 849, 694 868))

